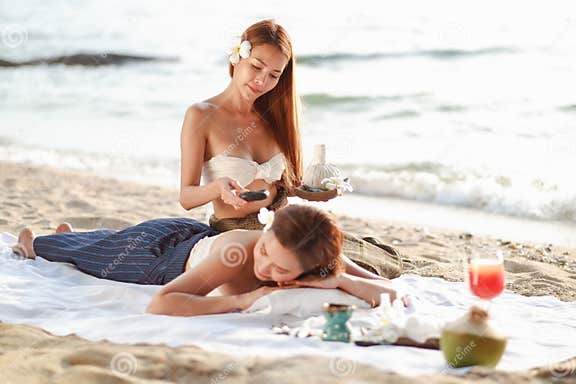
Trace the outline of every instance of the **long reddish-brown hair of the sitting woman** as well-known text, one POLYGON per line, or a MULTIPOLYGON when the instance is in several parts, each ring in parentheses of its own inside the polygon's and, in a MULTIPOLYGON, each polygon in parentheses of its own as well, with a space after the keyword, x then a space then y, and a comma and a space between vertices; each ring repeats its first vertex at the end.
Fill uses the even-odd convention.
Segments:
MULTIPOLYGON (((288 58, 276 86, 256 99, 256 112, 272 128, 272 135, 286 158, 286 170, 282 176, 288 187, 302 183, 302 147, 300 141, 301 101, 296 93, 292 43, 288 32, 273 20, 259 21, 244 31, 241 41, 248 40, 252 47, 269 44, 277 47, 288 58)), ((234 66, 228 66, 230 77, 234 66)))

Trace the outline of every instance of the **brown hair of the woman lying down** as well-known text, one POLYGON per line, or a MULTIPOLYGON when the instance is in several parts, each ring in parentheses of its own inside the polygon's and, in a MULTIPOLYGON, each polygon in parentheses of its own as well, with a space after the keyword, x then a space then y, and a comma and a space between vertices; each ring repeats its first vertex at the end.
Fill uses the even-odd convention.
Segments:
POLYGON ((300 261, 304 276, 344 272, 344 236, 334 216, 310 205, 288 205, 276 211, 271 230, 300 261))

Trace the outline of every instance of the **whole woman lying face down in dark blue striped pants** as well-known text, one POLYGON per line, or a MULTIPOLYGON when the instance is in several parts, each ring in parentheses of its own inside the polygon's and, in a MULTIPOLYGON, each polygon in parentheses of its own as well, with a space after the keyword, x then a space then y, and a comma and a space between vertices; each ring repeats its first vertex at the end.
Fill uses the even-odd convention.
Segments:
POLYGON ((72 263, 101 278, 167 283, 148 305, 149 313, 239 311, 275 289, 290 287, 339 288, 373 306, 382 293, 391 300, 396 296, 390 280, 345 272, 342 231, 330 214, 311 206, 278 210, 264 230, 218 235, 192 219, 150 220, 122 231, 68 230, 61 226, 58 234, 35 238, 25 229, 14 251, 72 263))

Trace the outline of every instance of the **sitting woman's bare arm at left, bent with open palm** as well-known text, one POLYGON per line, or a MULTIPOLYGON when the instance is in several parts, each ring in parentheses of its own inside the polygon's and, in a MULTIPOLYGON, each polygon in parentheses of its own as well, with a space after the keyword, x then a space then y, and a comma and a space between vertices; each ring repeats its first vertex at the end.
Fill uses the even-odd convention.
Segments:
POLYGON ((186 110, 180 135, 180 205, 186 210, 199 207, 217 198, 234 206, 243 206, 245 201, 232 193, 243 191, 234 180, 219 178, 200 185, 202 164, 206 151, 206 119, 209 116, 197 106, 186 110))

